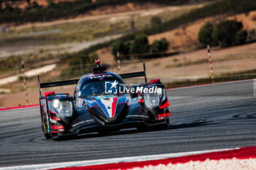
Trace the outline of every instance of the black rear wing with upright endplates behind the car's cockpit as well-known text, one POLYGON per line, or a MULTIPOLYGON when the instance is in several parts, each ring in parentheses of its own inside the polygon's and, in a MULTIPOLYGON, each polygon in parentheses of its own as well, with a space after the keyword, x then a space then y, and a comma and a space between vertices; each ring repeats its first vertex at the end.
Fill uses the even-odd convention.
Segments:
MULTIPOLYGON (((125 78, 132 78, 132 77, 145 77, 145 82, 147 82, 145 63, 143 63, 143 72, 132 72, 132 73, 119 74, 119 75, 124 79, 125 78)), ((63 86, 63 85, 75 85, 75 84, 78 84, 78 81, 80 79, 40 83, 40 78, 39 78, 39 75, 38 75, 37 80, 38 80, 39 95, 41 96, 41 88, 52 88, 52 87, 63 86)))

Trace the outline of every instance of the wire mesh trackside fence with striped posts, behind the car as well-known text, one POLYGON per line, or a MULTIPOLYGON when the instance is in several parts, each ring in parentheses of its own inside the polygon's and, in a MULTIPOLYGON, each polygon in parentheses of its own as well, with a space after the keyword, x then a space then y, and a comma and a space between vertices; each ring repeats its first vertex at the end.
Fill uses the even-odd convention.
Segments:
MULTIPOLYGON (((147 58, 147 56, 133 56, 132 59, 119 56, 120 63, 102 63, 108 66, 109 71, 127 73, 140 72, 143 63, 146 63, 148 80, 159 78, 167 88, 187 85, 200 85, 212 83, 211 67, 207 50, 199 53, 180 53, 169 56, 147 58), (119 66, 119 67, 118 67, 119 66)), ((20 64, 20 63, 17 63, 20 64)), ((26 104, 26 89, 28 90, 29 104, 37 104, 39 93, 37 75, 41 82, 68 80, 81 77, 91 72, 88 64, 69 65, 67 63, 52 63, 34 69, 26 69, 24 62, 24 75, 20 69, 0 72, 0 107, 14 107, 26 104)), ((227 82, 232 80, 247 80, 256 78, 256 50, 233 51, 223 53, 221 50, 211 50, 211 66, 214 68, 214 82, 227 82)), ((31 66, 29 66, 31 68, 31 66)), ((143 77, 129 79, 127 82, 143 82, 143 77)), ((73 94, 75 85, 46 90, 56 90, 73 94)))

